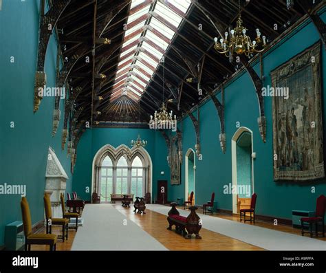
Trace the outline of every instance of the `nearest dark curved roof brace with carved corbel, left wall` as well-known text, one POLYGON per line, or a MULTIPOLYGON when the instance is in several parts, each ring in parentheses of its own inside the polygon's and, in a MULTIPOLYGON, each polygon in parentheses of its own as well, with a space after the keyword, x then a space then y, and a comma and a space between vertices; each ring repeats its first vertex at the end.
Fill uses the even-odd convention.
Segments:
POLYGON ((39 48, 37 54, 37 66, 34 83, 34 113, 39 110, 39 105, 43 98, 43 94, 40 94, 39 91, 46 85, 44 63, 47 44, 49 43, 52 30, 56 26, 56 22, 63 13, 63 10, 67 8, 70 1, 71 0, 57 0, 46 14, 41 14, 39 28, 39 48))

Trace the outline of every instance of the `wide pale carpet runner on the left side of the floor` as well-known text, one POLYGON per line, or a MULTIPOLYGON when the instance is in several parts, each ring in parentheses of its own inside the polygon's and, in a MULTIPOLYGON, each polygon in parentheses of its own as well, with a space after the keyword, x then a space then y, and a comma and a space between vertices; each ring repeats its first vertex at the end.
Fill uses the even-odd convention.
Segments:
POLYGON ((167 250, 111 204, 86 204, 72 250, 167 250))

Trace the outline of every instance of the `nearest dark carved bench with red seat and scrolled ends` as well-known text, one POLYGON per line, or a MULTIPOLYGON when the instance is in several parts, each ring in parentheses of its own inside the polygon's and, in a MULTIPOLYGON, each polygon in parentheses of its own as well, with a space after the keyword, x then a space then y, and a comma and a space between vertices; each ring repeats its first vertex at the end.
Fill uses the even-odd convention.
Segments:
POLYGON ((202 223, 199 216, 196 213, 197 206, 189 207, 191 212, 188 217, 181 216, 177 211, 177 203, 171 203, 171 210, 168 213, 167 220, 169 222, 168 230, 172 230, 172 226, 175 226, 175 232, 182 234, 186 239, 190 239, 192 234, 196 235, 196 239, 202 239, 199 235, 199 230, 202 228, 202 223))

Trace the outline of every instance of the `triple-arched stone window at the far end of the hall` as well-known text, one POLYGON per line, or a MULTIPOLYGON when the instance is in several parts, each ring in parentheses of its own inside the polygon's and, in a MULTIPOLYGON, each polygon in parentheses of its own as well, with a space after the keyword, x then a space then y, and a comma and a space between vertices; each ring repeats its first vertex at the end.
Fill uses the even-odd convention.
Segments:
POLYGON ((111 193, 152 194, 152 162, 143 147, 129 149, 122 144, 115 149, 107 144, 94 156, 92 171, 91 192, 102 203, 111 201, 111 193))

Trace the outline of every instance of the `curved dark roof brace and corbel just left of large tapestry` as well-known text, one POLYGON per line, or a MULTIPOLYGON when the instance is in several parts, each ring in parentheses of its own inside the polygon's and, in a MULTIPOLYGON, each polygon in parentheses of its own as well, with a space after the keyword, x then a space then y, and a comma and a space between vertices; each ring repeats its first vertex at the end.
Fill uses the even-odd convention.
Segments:
POLYGON ((246 68, 250 78, 252 79, 252 83, 254 83, 254 88, 256 89, 256 94, 259 102, 259 118, 257 118, 259 133, 261 134, 261 139, 263 142, 266 142, 266 117, 265 117, 265 109, 264 109, 264 101, 263 101, 263 80, 258 76, 258 74, 254 71, 254 69, 249 65, 246 58, 241 56, 241 63, 246 68))

